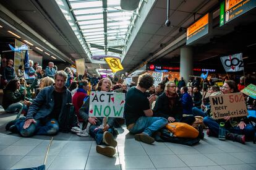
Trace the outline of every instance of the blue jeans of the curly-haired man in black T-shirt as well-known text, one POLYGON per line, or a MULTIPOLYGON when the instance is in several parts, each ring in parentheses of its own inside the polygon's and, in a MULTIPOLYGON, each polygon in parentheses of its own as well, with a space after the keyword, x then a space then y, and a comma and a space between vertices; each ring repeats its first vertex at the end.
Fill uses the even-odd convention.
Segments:
POLYGON ((129 131, 132 134, 144 133, 147 135, 152 135, 159 129, 162 129, 166 124, 168 124, 167 119, 164 117, 140 117, 134 124, 134 127, 129 131))

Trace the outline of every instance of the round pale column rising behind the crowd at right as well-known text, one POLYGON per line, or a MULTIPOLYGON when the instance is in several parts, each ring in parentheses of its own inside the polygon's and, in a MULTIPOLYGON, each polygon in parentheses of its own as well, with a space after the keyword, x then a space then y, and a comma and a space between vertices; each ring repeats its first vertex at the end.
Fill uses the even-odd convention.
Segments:
POLYGON ((189 82, 189 75, 193 75, 193 49, 190 46, 181 48, 180 77, 189 82))

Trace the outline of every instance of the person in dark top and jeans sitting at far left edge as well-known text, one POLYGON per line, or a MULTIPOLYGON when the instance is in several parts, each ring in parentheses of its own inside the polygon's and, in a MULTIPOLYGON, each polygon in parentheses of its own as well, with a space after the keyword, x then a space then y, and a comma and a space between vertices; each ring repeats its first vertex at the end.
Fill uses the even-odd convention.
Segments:
MULTIPOLYGON (((17 79, 10 80, 6 88, 4 88, 4 96, 2 100, 2 107, 7 113, 14 113, 17 111, 19 113, 20 109, 23 108, 23 104, 20 103, 24 99, 24 93, 19 92, 20 81, 17 79)), ((25 95, 27 91, 25 91, 25 95)))

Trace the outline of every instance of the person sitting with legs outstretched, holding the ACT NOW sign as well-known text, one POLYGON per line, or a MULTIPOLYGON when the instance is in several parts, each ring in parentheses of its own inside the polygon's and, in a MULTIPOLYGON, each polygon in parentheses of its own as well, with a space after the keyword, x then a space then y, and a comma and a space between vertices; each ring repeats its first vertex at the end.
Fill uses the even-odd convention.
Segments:
MULTIPOLYGON (((98 82, 96 87, 97 91, 106 91, 111 90, 112 82, 108 78, 101 79, 98 82)), ((105 156, 113 156, 116 153, 117 142, 114 140, 114 136, 117 135, 114 130, 114 117, 109 117, 106 121, 106 125, 103 127, 103 118, 104 117, 89 117, 89 105, 90 97, 87 98, 82 108, 79 109, 80 117, 84 122, 88 122, 87 127, 89 127, 89 134, 95 138, 97 146, 96 151, 105 156), (90 123, 90 124, 89 124, 90 123), (107 145, 106 147, 103 145, 107 145)))

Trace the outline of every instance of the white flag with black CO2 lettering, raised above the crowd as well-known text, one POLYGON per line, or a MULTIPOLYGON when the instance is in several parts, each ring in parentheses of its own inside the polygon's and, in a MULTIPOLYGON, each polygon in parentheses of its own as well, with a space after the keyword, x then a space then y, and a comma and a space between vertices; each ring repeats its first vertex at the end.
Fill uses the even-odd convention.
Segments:
POLYGON ((226 72, 239 72, 244 70, 242 53, 221 57, 221 62, 226 72))

